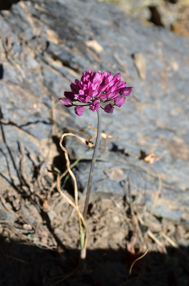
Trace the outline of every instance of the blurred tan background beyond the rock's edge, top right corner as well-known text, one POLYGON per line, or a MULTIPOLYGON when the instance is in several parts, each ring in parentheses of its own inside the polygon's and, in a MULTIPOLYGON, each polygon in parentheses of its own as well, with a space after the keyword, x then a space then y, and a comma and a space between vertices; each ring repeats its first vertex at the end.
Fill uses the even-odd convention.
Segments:
POLYGON ((118 5, 143 23, 165 27, 178 35, 189 36, 188 0, 99 0, 118 5))

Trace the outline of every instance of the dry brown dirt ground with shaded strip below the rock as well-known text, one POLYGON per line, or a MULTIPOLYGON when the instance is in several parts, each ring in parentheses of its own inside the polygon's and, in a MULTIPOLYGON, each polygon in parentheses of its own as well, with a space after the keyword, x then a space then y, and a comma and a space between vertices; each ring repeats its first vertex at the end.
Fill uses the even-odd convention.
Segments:
POLYGON ((12 188, 1 196, 16 221, 0 221, 0 285, 189 285, 186 226, 150 217, 134 198, 93 201, 82 272, 77 213, 56 188, 47 193, 29 197, 12 188))

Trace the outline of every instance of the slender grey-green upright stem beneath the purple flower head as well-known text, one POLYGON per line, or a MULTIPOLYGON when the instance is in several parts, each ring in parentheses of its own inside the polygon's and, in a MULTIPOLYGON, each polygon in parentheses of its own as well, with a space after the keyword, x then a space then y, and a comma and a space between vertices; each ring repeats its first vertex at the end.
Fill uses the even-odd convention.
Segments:
POLYGON ((89 181, 88 181, 88 186, 87 186, 87 194, 86 194, 85 206, 84 206, 84 211, 83 211, 84 220, 86 220, 86 217, 87 217, 87 210, 88 210, 88 206, 89 206, 89 197, 90 197, 91 185, 92 185, 92 180, 93 180, 94 164, 95 164, 96 156, 97 156, 97 152, 98 152, 98 146, 99 146, 99 142, 100 142, 100 134, 101 134, 101 109, 99 108, 98 109, 98 130, 97 130, 97 136, 96 136, 96 143, 94 146, 93 158, 91 161, 89 181))

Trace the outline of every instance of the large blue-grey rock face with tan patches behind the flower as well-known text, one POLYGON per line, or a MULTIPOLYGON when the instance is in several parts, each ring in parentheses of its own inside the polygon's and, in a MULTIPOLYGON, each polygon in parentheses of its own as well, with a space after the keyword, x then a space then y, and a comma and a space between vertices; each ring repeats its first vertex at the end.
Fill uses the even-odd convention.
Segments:
MULTIPOLYGON (((0 26, 2 182, 25 182, 35 192, 35 171, 47 178, 63 129, 95 134, 80 128, 96 127, 96 112, 78 117, 58 102, 69 82, 89 68, 121 72, 134 90, 113 114, 102 111, 112 139, 107 150, 100 143, 92 198, 128 195, 129 181, 131 196, 150 210, 161 177, 154 213, 189 221, 189 39, 145 26, 113 5, 81 0, 21 1, 1 11, 0 26), (144 152, 161 158, 148 164, 139 159, 144 152)), ((73 138, 66 146, 73 159, 86 150, 73 138)), ((75 170, 83 193, 91 156, 92 150, 75 170)))

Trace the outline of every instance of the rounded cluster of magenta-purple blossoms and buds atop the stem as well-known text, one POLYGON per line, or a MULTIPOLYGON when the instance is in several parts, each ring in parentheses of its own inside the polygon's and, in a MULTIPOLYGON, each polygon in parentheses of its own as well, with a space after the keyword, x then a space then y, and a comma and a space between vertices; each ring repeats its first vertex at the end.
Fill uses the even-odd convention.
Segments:
POLYGON ((89 106, 93 112, 101 107, 105 112, 112 113, 114 105, 122 106, 125 96, 129 96, 133 89, 121 81, 120 73, 112 76, 111 72, 93 72, 92 69, 84 72, 80 81, 71 82, 70 88, 71 92, 65 91, 65 97, 59 100, 66 107, 75 106, 75 113, 79 116, 84 112, 83 106, 89 106), (76 101, 84 104, 73 104, 76 101))

